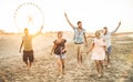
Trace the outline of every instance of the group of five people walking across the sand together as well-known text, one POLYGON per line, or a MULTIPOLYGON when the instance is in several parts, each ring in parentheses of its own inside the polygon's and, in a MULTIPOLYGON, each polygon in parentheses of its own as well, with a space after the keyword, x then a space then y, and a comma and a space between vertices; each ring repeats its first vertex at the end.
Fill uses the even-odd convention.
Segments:
MULTIPOLYGON (((93 43, 90 45, 88 52, 91 53, 91 60, 94 60, 95 68, 98 71, 98 76, 102 76, 103 73, 103 63, 110 68, 110 54, 111 54, 111 35, 117 31, 117 29, 121 25, 121 22, 119 22, 119 25, 113 32, 109 32, 108 28, 104 27, 102 30, 98 30, 94 33, 94 37, 86 37, 85 35, 85 29, 82 28, 82 22, 78 21, 78 27, 74 27, 66 13, 64 13, 64 17, 68 21, 68 23, 71 25, 71 28, 74 30, 74 52, 78 57, 78 66, 80 68, 82 65, 82 53, 84 53, 84 47, 88 47, 86 38, 93 38, 93 43)), ((43 28, 43 27, 42 27, 43 28)), ((41 30, 35 34, 38 35, 41 33, 41 30)), ((35 35, 30 35, 28 29, 24 29, 25 35, 22 37, 22 43, 20 45, 20 52, 22 47, 23 49, 23 61, 25 62, 28 69, 31 68, 31 64, 33 62, 33 49, 32 49, 32 38, 35 35)), ((53 48, 50 52, 50 54, 54 53, 58 69, 60 74, 64 74, 64 59, 66 54, 66 40, 62 39, 63 33, 61 31, 58 32, 58 38, 53 41, 53 48)))

